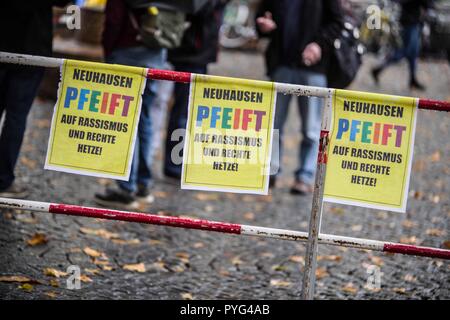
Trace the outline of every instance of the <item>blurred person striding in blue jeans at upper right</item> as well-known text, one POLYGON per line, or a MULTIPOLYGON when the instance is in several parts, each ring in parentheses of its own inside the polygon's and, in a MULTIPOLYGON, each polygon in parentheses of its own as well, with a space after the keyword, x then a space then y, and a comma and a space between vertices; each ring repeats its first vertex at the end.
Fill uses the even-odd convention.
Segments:
POLYGON ((397 49, 378 67, 372 70, 372 76, 378 83, 380 73, 389 65, 403 58, 408 60, 410 89, 425 90, 425 86, 417 80, 417 58, 420 53, 422 22, 432 0, 395 0, 401 5, 400 24, 402 25, 402 47, 397 49))

